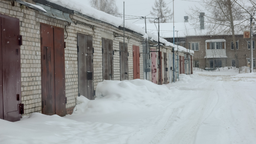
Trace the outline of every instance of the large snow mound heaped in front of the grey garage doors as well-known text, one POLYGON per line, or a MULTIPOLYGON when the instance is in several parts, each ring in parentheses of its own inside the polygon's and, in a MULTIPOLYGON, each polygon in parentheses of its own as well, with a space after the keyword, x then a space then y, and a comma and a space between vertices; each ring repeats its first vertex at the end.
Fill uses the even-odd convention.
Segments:
POLYGON ((74 114, 111 113, 127 110, 162 107, 161 103, 171 94, 166 86, 147 80, 104 80, 97 85, 93 101, 84 96, 77 97, 74 114))

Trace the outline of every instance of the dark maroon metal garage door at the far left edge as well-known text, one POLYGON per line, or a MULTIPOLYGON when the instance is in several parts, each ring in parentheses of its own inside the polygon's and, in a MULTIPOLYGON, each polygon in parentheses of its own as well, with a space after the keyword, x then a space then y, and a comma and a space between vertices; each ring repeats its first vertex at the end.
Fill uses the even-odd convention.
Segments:
POLYGON ((0 118, 15 122, 22 114, 20 21, 4 15, 0 19, 0 118))

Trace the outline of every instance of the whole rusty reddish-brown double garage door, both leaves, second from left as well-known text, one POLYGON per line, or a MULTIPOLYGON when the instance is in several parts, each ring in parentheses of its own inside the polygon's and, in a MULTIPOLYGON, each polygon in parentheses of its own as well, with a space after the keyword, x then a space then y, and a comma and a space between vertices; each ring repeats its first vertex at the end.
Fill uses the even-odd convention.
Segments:
POLYGON ((66 114, 64 60, 64 29, 41 23, 43 114, 66 114))

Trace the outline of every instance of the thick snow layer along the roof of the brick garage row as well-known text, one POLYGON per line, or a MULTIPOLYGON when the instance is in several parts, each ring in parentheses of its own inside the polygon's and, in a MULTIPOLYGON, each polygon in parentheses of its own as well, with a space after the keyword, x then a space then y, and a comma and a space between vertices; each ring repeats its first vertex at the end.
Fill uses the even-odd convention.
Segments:
MULTIPOLYGON (((53 2, 53 3, 63 6, 63 7, 66 7, 70 10, 77 11, 83 15, 95 18, 102 22, 109 23, 113 26, 123 27, 123 20, 121 18, 112 16, 103 11, 96 10, 96 9, 88 6, 83 0, 47 0, 47 1, 53 2)), ((143 28, 141 28, 140 26, 137 26, 131 22, 125 21, 125 28, 128 28, 129 30, 132 30, 139 34, 142 34, 143 38, 149 38, 151 41, 158 41, 157 35, 152 34, 150 32, 145 33, 145 30, 143 28)), ((171 47, 177 48, 177 45, 167 42, 166 39, 163 39, 161 37, 160 37, 160 42, 164 43, 165 46, 171 46, 171 47)), ((184 48, 184 47, 179 46, 178 49, 181 50, 182 52, 187 52, 187 50, 185 50, 186 48, 184 48)), ((193 50, 190 50, 190 53, 193 54, 194 53, 193 50)))

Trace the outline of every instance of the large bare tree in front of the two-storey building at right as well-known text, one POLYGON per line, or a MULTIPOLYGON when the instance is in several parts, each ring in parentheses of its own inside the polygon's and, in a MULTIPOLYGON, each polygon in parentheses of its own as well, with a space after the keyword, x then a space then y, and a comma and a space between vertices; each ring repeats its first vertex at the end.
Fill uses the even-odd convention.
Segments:
MULTIPOLYGON (((239 68, 238 54, 236 48, 235 32, 245 30, 249 24, 249 15, 245 11, 244 0, 202 0, 201 6, 206 12, 205 24, 208 28, 207 34, 230 34, 233 39, 233 46, 235 51, 236 68, 239 68)), ((248 11, 252 11, 246 7, 248 11)), ((192 20, 193 25, 198 23, 199 12, 203 12, 199 7, 190 8, 191 14, 188 14, 192 20), (197 16, 197 17, 195 17, 197 16), (197 20, 197 22, 195 21, 197 20)))

